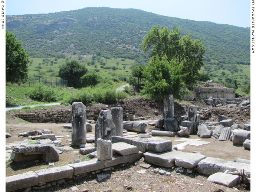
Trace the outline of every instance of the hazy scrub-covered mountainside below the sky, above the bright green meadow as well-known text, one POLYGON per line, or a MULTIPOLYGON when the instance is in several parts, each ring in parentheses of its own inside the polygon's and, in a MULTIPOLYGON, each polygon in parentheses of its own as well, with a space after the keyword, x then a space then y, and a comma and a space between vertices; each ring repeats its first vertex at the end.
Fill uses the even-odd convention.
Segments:
POLYGON ((206 64, 250 65, 250 29, 165 17, 136 9, 83 8, 49 14, 6 16, 6 28, 32 57, 63 54, 148 61, 141 42, 152 25, 178 27, 205 46, 206 64))

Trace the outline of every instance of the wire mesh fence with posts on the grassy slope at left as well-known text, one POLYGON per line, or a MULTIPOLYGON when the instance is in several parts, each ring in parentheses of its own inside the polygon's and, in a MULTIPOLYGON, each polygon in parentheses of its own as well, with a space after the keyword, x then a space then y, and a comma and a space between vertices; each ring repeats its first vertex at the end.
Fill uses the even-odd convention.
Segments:
POLYGON ((46 77, 46 76, 38 76, 38 75, 29 75, 29 79, 27 84, 29 86, 35 86, 36 83, 43 83, 46 87, 63 87, 66 88, 68 86, 68 80, 46 77))

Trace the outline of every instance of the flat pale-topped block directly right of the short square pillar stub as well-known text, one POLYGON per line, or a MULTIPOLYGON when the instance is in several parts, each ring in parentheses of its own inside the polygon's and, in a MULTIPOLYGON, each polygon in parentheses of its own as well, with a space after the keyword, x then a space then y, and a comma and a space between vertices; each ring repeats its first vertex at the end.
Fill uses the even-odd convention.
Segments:
POLYGON ((131 155, 131 154, 139 152, 138 147, 136 147, 134 145, 130 145, 128 143, 123 143, 123 142, 113 143, 112 150, 116 154, 119 154, 122 156, 131 155))

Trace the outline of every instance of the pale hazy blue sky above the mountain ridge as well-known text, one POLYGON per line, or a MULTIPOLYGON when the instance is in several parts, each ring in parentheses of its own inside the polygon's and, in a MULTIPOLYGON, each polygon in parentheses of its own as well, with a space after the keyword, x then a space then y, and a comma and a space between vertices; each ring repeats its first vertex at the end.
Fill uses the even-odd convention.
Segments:
POLYGON ((84 7, 136 8, 164 16, 250 27, 250 0, 6 0, 6 15, 84 7))

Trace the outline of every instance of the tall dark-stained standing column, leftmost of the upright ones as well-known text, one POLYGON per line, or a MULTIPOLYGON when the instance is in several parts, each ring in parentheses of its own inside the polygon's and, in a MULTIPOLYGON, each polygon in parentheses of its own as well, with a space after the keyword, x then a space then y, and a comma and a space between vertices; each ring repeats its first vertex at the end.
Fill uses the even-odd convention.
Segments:
POLYGON ((86 144, 86 108, 82 102, 72 104, 72 145, 86 144))

